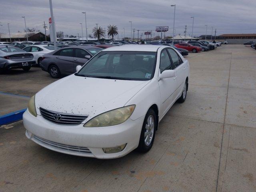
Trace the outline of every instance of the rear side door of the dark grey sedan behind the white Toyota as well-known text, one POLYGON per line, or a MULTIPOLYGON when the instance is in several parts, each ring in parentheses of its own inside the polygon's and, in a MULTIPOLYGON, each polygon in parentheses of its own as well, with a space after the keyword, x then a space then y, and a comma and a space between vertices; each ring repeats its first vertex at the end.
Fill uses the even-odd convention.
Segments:
POLYGON ((56 63, 61 74, 74 73, 74 48, 64 48, 55 55, 56 63))

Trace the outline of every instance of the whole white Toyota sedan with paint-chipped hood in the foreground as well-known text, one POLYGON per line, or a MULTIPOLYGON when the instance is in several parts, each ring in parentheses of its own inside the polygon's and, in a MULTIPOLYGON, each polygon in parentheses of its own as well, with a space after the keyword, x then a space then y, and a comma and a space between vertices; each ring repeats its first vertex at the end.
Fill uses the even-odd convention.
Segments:
POLYGON ((36 93, 26 136, 66 154, 118 158, 153 145, 160 120, 188 90, 188 60, 170 46, 102 50, 77 72, 36 93))

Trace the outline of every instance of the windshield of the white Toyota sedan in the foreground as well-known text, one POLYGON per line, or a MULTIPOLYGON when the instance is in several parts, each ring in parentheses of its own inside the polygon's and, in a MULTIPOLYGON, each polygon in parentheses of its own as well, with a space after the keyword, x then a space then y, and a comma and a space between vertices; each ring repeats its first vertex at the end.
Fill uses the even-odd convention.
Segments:
POLYGON ((94 78, 150 80, 154 76, 156 52, 104 51, 76 74, 94 78))

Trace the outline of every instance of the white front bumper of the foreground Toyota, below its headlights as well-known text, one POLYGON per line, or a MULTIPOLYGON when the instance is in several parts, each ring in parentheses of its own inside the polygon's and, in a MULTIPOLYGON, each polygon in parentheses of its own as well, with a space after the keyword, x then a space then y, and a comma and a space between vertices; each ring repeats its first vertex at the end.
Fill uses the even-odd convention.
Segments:
POLYGON ((34 117, 26 110, 23 114, 23 123, 27 138, 45 148, 76 156, 107 159, 122 157, 138 147, 144 117, 136 120, 129 118, 116 126, 88 128, 83 127, 83 124, 54 124, 40 115, 34 117), (102 150, 126 143, 121 152, 106 154, 102 150), (72 150, 74 147, 76 150, 72 150), (88 150, 77 150, 78 148, 88 150))

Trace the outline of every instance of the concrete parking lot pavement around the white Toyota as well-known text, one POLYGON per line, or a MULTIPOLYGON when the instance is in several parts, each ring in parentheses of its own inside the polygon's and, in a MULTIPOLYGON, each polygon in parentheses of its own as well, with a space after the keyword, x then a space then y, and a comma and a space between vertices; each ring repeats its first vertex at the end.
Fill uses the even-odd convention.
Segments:
MULTIPOLYGON (((61 154, 28 140, 16 122, 0 128, 0 192, 256 191, 256 51, 222 45, 186 58, 186 101, 160 122, 148 153, 61 154)), ((1 75, 0 112, 24 108, 28 98, 20 96, 54 81, 40 68, 1 75)))

